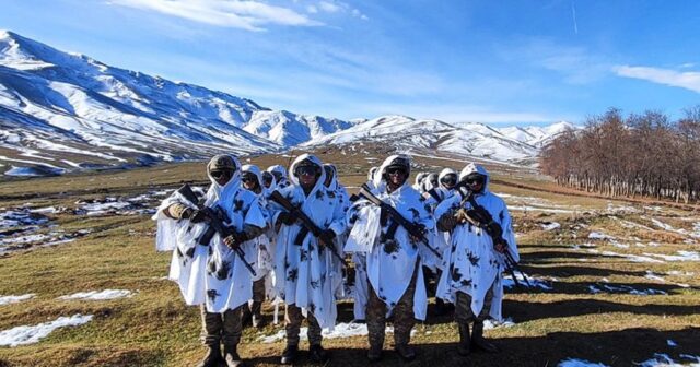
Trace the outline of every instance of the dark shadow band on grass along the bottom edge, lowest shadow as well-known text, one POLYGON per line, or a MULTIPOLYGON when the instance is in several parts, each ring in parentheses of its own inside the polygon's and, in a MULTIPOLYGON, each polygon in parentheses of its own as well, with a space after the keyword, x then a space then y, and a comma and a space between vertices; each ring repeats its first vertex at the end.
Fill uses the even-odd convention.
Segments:
MULTIPOLYGON (((487 335, 488 336, 488 335, 487 335)), ((456 340, 455 335, 455 340, 456 340)), ((389 340, 389 339, 387 339, 389 340)), ((619 331, 580 333, 555 332, 544 336, 516 336, 492 339, 501 350, 498 354, 474 352, 468 357, 457 355, 455 343, 415 344, 418 356, 410 363, 401 362, 385 344, 381 363, 369 364, 364 348, 330 348, 331 359, 323 366, 556 366, 569 358, 603 363, 609 366, 634 366, 654 358, 654 354, 667 354, 677 362, 691 363, 689 356, 700 355, 700 328, 675 331, 655 329, 627 329, 619 331), (670 346, 668 341, 677 346, 670 346), (685 355, 685 356, 684 356, 685 355)), ((245 356, 244 356, 245 357, 245 356)), ((260 356, 247 359, 252 366, 279 365, 278 356, 260 356)), ((308 360, 302 351, 295 366, 319 366, 308 360)))

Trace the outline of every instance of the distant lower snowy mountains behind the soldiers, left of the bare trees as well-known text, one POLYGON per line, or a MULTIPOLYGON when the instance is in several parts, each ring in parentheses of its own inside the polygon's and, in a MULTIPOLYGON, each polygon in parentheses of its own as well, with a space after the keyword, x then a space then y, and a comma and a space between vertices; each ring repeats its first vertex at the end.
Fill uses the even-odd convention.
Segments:
POLYGON ((453 155, 503 162, 523 162, 537 156, 549 139, 573 128, 569 122, 550 127, 491 128, 483 123, 447 123, 407 116, 384 116, 314 139, 305 146, 383 142, 404 151, 438 151, 453 155))

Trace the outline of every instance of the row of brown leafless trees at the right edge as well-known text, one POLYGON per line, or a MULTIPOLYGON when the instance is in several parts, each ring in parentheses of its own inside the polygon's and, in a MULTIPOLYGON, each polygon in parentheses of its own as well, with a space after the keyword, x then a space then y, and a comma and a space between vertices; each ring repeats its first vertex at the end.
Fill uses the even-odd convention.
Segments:
POLYGON ((608 196, 700 199, 700 105, 672 121, 660 111, 619 109, 586 119, 553 139, 540 168, 559 185, 608 196))

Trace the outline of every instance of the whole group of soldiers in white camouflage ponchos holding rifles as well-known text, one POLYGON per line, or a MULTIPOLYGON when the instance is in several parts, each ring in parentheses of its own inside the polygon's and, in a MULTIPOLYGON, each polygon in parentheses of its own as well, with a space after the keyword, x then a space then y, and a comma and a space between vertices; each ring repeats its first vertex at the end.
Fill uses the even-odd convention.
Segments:
POLYGON ((435 276, 436 299, 455 307, 457 353, 497 351, 483 321, 502 318, 502 272, 520 257, 505 203, 488 190, 483 167, 419 174, 411 186, 410 157, 392 155, 352 197, 336 167, 311 154, 296 157, 289 176, 282 166, 261 170, 233 155, 214 156, 207 174, 211 186, 201 198, 185 186, 154 216, 156 248, 173 251, 170 279, 187 305, 200 307, 208 347, 200 366, 243 365, 243 312, 260 325, 266 298, 284 304, 281 363, 298 360, 304 318, 310 359, 327 360, 322 329, 336 323, 346 254, 370 362, 382 359, 388 317, 395 351, 416 357, 410 332, 427 317, 427 276, 435 276))

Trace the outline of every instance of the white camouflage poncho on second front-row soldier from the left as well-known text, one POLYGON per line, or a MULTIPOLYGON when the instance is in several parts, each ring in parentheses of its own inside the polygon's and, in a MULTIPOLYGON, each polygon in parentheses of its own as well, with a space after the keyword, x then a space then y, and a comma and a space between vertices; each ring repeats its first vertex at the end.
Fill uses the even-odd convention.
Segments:
MULTIPOLYGON (((291 176, 292 185, 280 189, 279 192, 314 221, 322 229, 330 228, 336 235, 345 232, 345 216, 335 191, 324 186, 326 174, 320 161, 310 154, 299 156, 290 171, 296 165, 310 159, 320 168, 320 177, 308 193, 299 183, 295 176, 291 176)), ((270 201, 273 223, 283 211, 282 206, 270 201)), ((302 225, 282 225, 277 236, 275 254, 276 291, 288 305, 296 305, 304 312, 312 312, 322 328, 332 328, 336 323, 337 308, 335 287, 342 282, 339 261, 329 252, 329 248, 319 250, 318 239, 308 233, 301 246, 294 239, 302 229, 302 225)), ((338 251, 335 244, 334 251, 338 251)))

